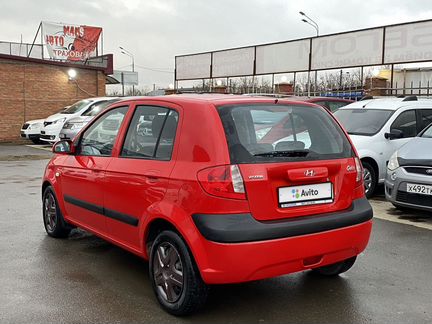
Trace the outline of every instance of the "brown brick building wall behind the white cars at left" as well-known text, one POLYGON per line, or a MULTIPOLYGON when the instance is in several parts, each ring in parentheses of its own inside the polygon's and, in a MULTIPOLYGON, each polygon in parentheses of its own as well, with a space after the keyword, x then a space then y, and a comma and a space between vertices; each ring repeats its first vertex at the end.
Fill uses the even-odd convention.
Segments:
POLYGON ((102 71, 76 67, 73 82, 68 79, 69 69, 0 59, 0 142, 19 141, 27 120, 46 118, 80 99, 105 96, 102 71))

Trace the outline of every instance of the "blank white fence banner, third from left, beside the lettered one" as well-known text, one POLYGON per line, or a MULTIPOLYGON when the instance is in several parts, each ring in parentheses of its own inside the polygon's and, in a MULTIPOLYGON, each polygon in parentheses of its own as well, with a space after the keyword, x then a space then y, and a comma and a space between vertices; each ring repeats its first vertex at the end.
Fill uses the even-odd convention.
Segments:
POLYGON ((307 71, 310 40, 257 46, 256 73, 307 71))

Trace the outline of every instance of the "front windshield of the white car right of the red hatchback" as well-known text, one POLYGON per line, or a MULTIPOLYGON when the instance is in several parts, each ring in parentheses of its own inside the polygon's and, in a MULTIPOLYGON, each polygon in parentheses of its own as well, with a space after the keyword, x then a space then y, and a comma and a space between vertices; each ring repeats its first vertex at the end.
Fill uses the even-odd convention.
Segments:
POLYGON ((367 108, 344 108, 334 113, 348 134, 366 136, 378 133, 392 114, 392 110, 367 108))

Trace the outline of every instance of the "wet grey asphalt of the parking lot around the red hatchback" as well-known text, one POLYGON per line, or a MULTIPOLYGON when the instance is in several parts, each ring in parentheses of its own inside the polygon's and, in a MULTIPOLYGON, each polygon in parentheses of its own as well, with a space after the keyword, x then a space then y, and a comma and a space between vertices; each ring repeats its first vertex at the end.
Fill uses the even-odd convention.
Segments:
POLYGON ((144 260, 81 230, 49 238, 40 186, 51 154, 7 150, 0 146, 0 323, 432 322, 427 214, 404 215, 378 197, 370 244, 347 273, 214 286, 200 313, 176 318, 159 308, 144 260))

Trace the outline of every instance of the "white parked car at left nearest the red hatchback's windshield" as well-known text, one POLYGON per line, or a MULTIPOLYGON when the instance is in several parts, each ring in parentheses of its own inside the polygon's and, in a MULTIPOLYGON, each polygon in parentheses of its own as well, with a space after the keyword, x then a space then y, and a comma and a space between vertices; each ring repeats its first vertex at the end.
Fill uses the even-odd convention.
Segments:
POLYGON ((81 116, 71 118, 63 124, 63 128, 60 131, 60 139, 73 139, 76 134, 90 122, 97 114, 104 111, 109 105, 118 101, 118 98, 114 98, 106 101, 99 101, 94 103, 90 108, 86 109, 81 116))

